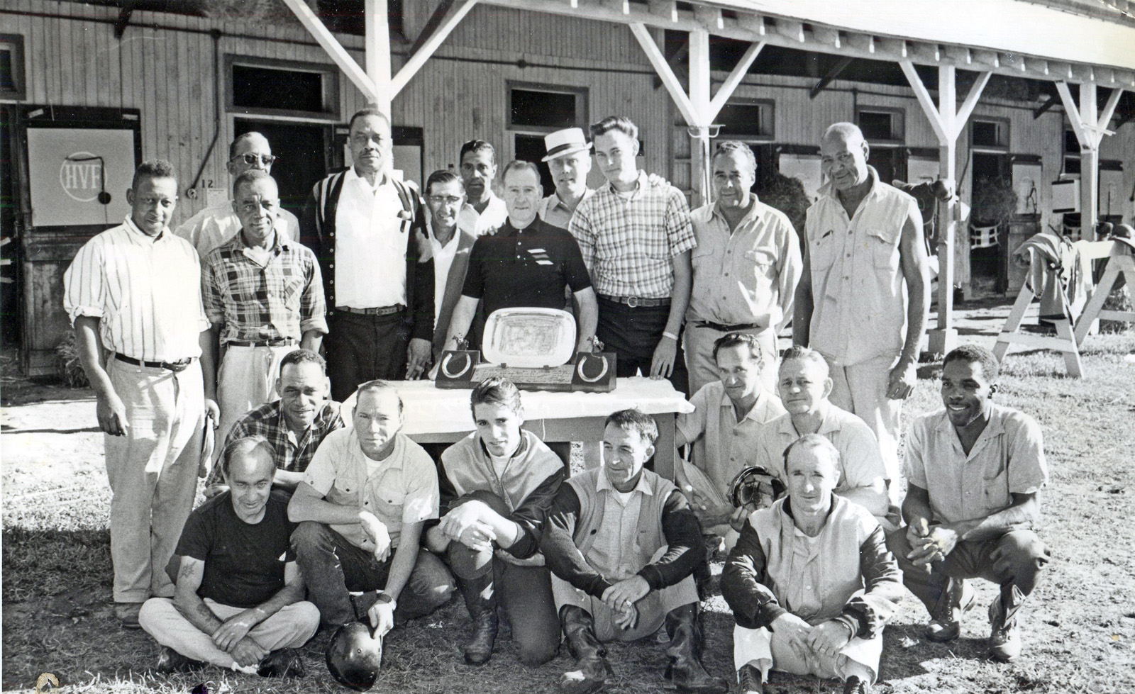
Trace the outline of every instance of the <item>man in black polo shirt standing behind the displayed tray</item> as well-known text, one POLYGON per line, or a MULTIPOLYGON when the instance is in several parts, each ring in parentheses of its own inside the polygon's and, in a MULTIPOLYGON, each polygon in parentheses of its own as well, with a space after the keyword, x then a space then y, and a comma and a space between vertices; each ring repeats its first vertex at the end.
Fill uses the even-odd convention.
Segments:
MULTIPOLYGON (((589 349, 598 307, 579 245, 571 234, 537 218, 544 188, 536 164, 510 162, 502 180, 508 219, 496 235, 473 244, 446 347, 466 337, 481 302, 486 315, 497 308, 564 308, 566 286, 579 302, 577 349, 589 349)), ((471 337, 470 345, 480 347, 480 336, 471 337)))

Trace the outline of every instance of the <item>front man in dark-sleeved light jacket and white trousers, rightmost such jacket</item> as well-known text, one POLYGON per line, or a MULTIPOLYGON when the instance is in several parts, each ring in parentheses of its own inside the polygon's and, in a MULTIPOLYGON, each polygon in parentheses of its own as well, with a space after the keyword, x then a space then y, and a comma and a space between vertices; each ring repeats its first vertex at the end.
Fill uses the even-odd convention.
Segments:
POLYGON ((733 610, 733 662, 745 694, 768 670, 838 677, 866 694, 878 674, 883 625, 902 594, 883 528, 834 492, 840 454, 819 434, 784 452, 788 496, 749 516, 722 572, 733 610))

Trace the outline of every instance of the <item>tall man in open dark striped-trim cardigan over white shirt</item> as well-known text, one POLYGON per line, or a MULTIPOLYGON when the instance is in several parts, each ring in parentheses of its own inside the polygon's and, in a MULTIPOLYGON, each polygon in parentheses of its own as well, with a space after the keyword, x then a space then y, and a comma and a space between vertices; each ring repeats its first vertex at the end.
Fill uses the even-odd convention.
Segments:
POLYGON ((390 121, 351 117, 346 171, 316 184, 303 243, 316 252, 327 299, 327 375, 344 400, 373 379, 417 379, 430 363, 434 261, 418 191, 389 172, 390 121))

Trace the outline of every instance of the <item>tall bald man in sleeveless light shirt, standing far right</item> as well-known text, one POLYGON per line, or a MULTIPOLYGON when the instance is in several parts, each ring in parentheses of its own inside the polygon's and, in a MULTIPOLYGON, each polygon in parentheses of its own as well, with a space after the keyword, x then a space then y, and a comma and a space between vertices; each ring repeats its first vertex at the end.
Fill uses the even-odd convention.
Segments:
POLYGON ((821 141, 827 184, 808 209, 792 341, 827 361, 831 400, 875 433, 898 501, 899 416, 917 380, 930 274, 918 203, 878 180, 869 151, 850 122, 821 141))

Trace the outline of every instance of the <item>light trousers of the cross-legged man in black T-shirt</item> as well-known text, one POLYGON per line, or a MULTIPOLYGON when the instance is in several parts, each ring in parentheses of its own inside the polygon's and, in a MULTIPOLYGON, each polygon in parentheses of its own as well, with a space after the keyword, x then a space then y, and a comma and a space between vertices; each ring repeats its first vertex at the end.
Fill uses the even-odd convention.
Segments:
MULTIPOLYGON (((239 615, 244 608, 221 604, 209 598, 205 606, 221 621, 239 615)), ((238 666, 233 655, 217 648, 211 635, 193 626, 168 598, 151 598, 138 612, 138 624, 146 634, 163 646, 169 646, 190 658, 220 668, 236 670, 238 666)), ((249 638, 269 651, 279 649, 297 649, 316 635, 319 628, 319 609, 310 602, 293 602, 284 606, 268 619, 264 619, 249 632, 249 638)))

